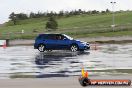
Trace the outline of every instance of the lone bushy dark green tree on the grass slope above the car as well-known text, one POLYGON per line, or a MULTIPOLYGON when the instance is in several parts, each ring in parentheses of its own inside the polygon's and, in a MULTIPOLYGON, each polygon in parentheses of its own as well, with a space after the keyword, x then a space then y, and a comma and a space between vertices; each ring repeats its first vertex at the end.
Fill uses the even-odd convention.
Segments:
POLYGON ((46 29, 56 30, 57 28, 58 28, 58 23, 55 20, 55 18, 53 16, 49 17, 48 22, 46 23, 46 29))

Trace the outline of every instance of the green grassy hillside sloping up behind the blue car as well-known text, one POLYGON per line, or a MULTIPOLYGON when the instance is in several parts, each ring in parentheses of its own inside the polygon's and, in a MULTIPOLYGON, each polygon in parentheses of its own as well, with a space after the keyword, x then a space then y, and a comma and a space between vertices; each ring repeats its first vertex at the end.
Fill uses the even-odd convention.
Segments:
MULTIPOLYGON (((49 33, 45 29, 47 18, 18 21, 18 25, 7 22, 0 27, 0 39, 32 39, 38 33, 49 33), (24 30, 24 34, 20 34, 24 30), (33 31, 37 30, 37 33, 33 31)), ((115 13, 115 31, 111 28, 112 14, 77 15, 57 18, 59 28, 52 33, 65 33, 72 37, 132 36, 132 12, 115 13)))

